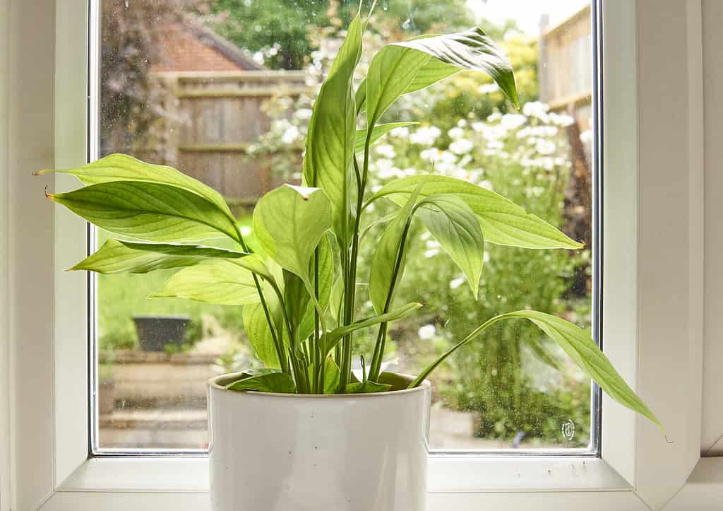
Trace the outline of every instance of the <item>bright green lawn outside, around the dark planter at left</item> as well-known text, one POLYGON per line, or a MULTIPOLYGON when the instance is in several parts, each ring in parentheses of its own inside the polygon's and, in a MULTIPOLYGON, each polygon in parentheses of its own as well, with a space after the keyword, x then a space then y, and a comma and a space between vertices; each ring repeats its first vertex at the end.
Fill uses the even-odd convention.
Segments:
MULTIPOLYGON (((239 219, 242 227, 250 227, 251 217, 239 219)), ((98 232, 98 244, 111 233, 98 232)), ((213 243, 213 245, 231 244, 213 243)), ((213 316, 226 329, 241 331, 241 307, 213 305, 181 298, 147 298, 163 287, 174 270, 159 270, 148 274, 98 275, 98 345, 101 350, 137 347, 133 316, 183 314, 200 321, 202 316, 213 316)))

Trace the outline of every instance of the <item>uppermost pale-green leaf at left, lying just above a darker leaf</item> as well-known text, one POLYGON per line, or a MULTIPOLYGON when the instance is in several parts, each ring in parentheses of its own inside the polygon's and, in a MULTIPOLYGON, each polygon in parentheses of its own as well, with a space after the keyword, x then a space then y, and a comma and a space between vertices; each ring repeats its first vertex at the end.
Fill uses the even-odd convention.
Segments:
POLYGON ((74 169, 41 170, 37 174, 45 174, 46 172, 71 174, 85 185, 99 185, 100 183, 114 181, 142 181, 171 185, 205 198, 210 203, 218 206, 229 218, 234 219, 226 201, 213 188, 204 185, 199 180, 194 180, 194 178, 179 172, 173 167, 148 164, 127 154, 110 154, 93 161, 93 163, 75 167, 74 169))

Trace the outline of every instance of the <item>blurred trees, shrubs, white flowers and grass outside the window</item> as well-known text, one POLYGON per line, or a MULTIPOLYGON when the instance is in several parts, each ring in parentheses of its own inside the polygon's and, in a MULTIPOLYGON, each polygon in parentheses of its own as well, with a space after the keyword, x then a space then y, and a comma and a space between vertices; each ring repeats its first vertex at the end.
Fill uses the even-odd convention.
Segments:
MULTIPOLYGON (((103 94, 114 98, 104 101, 114 107, 103 110, 103 122, 111 129, 116 125, 126 129, 132 124, 129 132, 144 130, 152 124, 147 119, 163 114, 149 107, 162 91, 147 80, 147 70, 156 56, 153 34, 159 20, 192 12, 247 49, 257 62, 271 69, 305 69, 309 83, 318 87, 341 44, 343 27, 356 12, 355 4, 334 0, 154 0, 131 5, 137 12, 123 17, 131 22, 103 28, 107 34, 103 36, 103 94), (124 78, 119 80, 118 76, 124 78)), ((103 9, 128 8, 124 0, 103 2, 103 9)), ((359 72, 364 72, 370 55, 386 41, 463 30, 473 24, 464 0, 381 0, 365 38, 359 72)), ((390 109, 386 120, 422 124, 395 130, 377 144, 372 154, 372 187, 405 175, 447 174, 489 187, 562 227, 571 168, 564 130, 572 120, 550 113, 546 105, 537 102, 536 38, 522 33, 512 21, 503 25, 482 22, 482 28, 501 41, 510 57, 523 111, 513 112, 492 80, 475 73, 461 73, 404 96, 390 109)), ((298 181, 299 151, 303 149, 314 92, 298 98, 271 98, 265 105, 270 130, 249 148, 247 158, 268 159, 278 177, 298 181)), ((129 148, 132 140, 129 147, 121 149, 129 148)), ((367 221, 391 211, 393 206, 383 202, 375 204, 367 221)), ((249 224, 247 218, 241 222, 249 224)), ((382 229, 373 228, 362 246, 362 276, 368 274, 373 240, 382 229)), ((463 282, 461 271, 440 250, 419 225, 414 226, 397 299, 421 300, 426 307, 421 315, 395 324, 390 333, 389 356, 398 358, 398 370, 414 373, 498 313, 535 308, 589 327, 590 297, 570 292, 576 272, 589 276, 589 250, 571 253, 487 244, 478 301, 463 282)), ((221 329, 243 341, 239 308, 145 300, 167 276, 160 271, 142 277, 100 276, 101 349, 134 347, 130 316, 151 309, 155 313, 182 312, 205 322, 213 318, 221 329)), ((359 288, 357 303, 360 314, 371 311, 364 285, 359 288)), ((369 353, 373 336, 373 332, 357 336, 357 348, 369 353)), ((248 350, 237 346, 219 361, 227 371, 254 363, 248 350)), ((560 443, 560 418, 569 418, 578 431, 575 444, 565 446, 584 447, 589 440, 589 381, 534 326, 521 321, 498 324, 483 339, 450 358, 441 371, 435 372, 434 379, 435 399, 453 409, 475 413, 476 435, 513 439, 524 434, 533 442, 560 443)))

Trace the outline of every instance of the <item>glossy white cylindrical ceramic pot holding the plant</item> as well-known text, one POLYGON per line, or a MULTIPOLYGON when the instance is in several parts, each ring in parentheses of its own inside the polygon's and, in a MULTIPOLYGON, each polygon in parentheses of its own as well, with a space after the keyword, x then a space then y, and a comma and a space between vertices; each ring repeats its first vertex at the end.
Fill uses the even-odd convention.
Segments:
POLYGON ((427 381, 378 394, 232 392, 209 381, 212 511, 424 511, 427 381))

